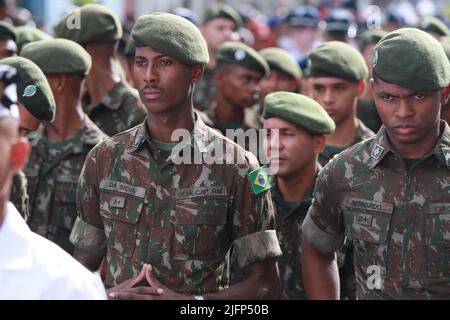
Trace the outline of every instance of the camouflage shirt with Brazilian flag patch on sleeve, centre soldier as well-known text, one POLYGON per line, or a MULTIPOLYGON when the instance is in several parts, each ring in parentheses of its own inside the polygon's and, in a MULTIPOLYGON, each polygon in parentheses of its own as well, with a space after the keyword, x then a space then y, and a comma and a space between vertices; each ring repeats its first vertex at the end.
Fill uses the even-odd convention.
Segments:
POLYGON ((150 263, 172 290, 216 292, 231 245, 240 267, 281 255, 276 232, 269 230, 270 191, 251 191, 248 174, 258 167, 256 159, 196 118, 191 145, 175 156, 163 157, 151 144, 146 122, 88 156, 71 241, 92 255, 106 254, 106 287, 135 277, 150 263), (232 159, 244 164, 174 163, 215 143, 231 147, 232 159))

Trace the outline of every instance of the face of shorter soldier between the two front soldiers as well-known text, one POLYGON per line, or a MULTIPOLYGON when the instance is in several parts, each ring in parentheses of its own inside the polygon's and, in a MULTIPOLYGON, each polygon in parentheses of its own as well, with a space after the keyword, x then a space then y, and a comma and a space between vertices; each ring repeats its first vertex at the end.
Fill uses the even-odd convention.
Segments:
POLYGON ((325 147, 324 136, 314 136, 281 118, 266 119, 264 128, 268 129, 265 145, 270 168, 278 167, 278 177, 281 178, 289 178, 315 166, 318 154, 325 147), (278 148, 276 157, 273 154, 277 155, 277 152, 272 152, 275 148, 278 148))

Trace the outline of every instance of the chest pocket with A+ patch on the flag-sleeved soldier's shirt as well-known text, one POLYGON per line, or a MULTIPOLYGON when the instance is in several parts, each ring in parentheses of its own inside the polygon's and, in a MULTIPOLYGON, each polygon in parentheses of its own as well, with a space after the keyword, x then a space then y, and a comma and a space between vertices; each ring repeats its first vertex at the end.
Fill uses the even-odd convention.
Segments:
POLYGON ((134 194, 100 189, 100 214, 103 218, 108 249, 131 257, 141 216, 145 189, 132 187, 134 194))

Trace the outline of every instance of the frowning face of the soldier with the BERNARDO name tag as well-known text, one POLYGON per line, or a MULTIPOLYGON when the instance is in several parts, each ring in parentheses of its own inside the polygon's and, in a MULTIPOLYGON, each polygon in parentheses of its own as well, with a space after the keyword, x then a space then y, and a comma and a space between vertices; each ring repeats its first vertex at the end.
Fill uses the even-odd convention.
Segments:
POLYGON ((441 104, 448 94, 415 92, 381 79, 371 84, 378 113, 397 151, 432 148, 439 130, 441 104))

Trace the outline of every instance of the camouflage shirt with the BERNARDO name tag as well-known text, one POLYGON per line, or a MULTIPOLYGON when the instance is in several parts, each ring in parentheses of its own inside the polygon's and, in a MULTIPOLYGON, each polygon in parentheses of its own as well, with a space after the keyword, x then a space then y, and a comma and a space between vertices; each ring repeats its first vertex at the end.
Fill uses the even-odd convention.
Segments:
POLYGON ((450 128, 440 129, 413 165, 382 127, 319 174, 303 235, 324 252, 353 241, 359 299, 450 298, 450 128), (377 268, 381 289, 371 290, 377 268))

